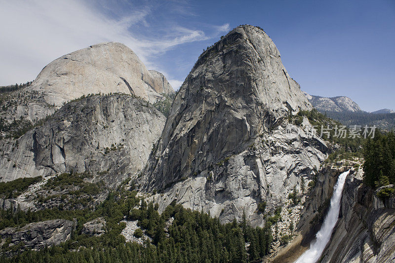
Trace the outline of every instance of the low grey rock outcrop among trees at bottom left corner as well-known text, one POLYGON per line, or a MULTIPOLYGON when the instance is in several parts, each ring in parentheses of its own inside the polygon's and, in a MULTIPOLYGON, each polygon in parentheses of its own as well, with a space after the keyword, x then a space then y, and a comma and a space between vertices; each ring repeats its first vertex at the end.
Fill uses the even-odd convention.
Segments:
POLYGON ((54 219, 31 223, 21 229, 5 228, 0 231, 1 244, 11 238, 9 246, 24 243, 24 249, 42 249, 56 246, 70 239, 74 223, 64 219, 54 219))

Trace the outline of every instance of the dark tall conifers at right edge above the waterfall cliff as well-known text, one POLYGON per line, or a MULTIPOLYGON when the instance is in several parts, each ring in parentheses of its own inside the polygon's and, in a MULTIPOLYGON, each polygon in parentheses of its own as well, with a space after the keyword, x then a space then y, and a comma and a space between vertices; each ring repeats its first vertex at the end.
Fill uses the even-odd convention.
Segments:
POLYGON ((363 148, 364 182, 373 188, 395 184, 395 134, 378 132, 363 148))

